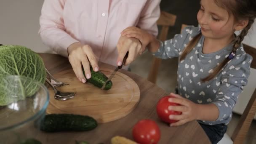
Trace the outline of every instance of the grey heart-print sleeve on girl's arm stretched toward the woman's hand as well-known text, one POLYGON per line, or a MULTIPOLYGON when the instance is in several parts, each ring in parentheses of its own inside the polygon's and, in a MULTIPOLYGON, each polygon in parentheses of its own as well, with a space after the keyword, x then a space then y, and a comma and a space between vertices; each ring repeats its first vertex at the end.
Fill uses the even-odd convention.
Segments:
POLYGON ((152 54, 160 59, 179 57, 189 41, 192 40, 192 37, 199 33, 200 29, 198 27, 186 27, 182 30, 181 34, 175 35, 171 40, 160 42, 160 48, 152 54))

